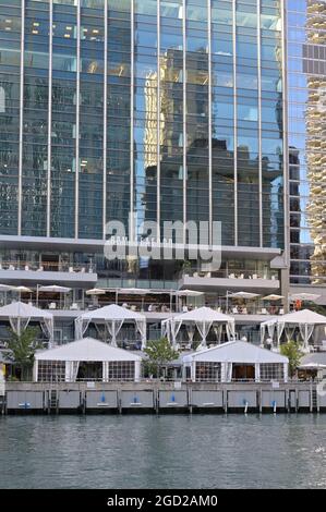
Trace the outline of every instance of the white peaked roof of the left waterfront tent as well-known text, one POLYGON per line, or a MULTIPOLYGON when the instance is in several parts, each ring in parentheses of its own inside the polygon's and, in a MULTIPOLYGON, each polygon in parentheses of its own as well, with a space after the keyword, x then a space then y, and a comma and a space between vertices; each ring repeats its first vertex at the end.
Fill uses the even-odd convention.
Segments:
POLYGON ((142 357, 130 351, 95 340, 83 338, 47 351, 37 352, 36 361, 142 361, 142 357))

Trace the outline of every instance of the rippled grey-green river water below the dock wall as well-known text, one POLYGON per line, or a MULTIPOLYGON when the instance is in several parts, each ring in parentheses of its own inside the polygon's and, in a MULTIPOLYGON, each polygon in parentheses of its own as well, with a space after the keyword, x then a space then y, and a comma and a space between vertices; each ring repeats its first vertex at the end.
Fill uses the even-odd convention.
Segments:
POLYGON ((326 488, 326 415, 0 417, 0 488, 326 488))

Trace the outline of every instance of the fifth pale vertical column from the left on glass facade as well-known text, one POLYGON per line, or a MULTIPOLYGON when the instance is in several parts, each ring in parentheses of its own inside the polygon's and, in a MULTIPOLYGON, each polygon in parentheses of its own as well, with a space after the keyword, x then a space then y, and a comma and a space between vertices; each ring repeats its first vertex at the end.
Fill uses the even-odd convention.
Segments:
POLYGON ((130 215, 129 215, 129 239, 134 240, 134 89, 135 89, 135 51, 134 51, 134 0, 131 0, 131 61, 130 61, 130 215))

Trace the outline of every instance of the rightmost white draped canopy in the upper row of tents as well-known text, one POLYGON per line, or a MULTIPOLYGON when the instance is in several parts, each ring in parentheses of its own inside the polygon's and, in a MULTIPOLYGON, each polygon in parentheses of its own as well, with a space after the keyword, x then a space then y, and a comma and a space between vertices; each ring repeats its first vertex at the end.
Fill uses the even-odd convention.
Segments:
POLYGON ((277 346, 279 346, 283 332, 286 332, 287 340, 289 341, 293 336, 295 328, 299 328, 304 349, 307 350, 309 340, 311 339, 316 326, 326 327, 326 317, 318 313, 311 312, 310 309, 289 313, 261 324, 262 342, 264 341, 267 331, 269 338, 276 338, 277 346))

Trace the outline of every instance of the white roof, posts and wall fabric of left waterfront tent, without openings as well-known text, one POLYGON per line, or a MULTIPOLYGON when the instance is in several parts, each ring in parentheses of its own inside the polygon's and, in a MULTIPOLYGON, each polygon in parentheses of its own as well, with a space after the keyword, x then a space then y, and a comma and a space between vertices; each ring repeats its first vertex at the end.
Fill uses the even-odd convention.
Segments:
MULTIPOLYGON (((102 363, 102 380, 114 380, 113 373, 110 371, 110 363, 113 363, 113 368, 117 368, 119 364, 123 368, 124 363, 130 363, 133 369, 133 380, 138 380, 141 376, 141 362, 142 357, 133 354, 130 351, 117 349, 104 343, 102 341, 95 340, 93 338, 83 338, 82 340, 73 341, 64 345, 57 346, 52 350, 37 352, 35 354, 34 363, 34 380, 43 380, 43 368, 41 364, 45 363, 47 368, 51 363, 62 362, 63 376, 67 382, 75 382, 79 374, 80 363, 102 363), (47 362, 47 365, 46 365, 47 362)), ((50 377, 56 377, 63 380, 62 375, 56 374, 58 365, 52 365, 50 377)), ((49 368, 47 369, 47 373, 49 368)))

